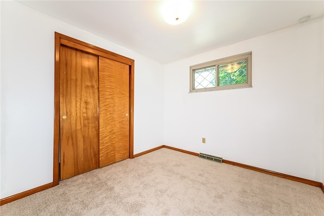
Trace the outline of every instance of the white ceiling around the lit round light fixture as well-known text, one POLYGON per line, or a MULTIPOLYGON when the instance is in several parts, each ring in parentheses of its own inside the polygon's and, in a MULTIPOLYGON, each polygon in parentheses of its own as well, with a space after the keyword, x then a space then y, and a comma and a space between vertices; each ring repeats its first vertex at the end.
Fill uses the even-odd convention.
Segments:
MULTIPOLYGON (((323 1, 194 1, 169 25, 163 1, 19 1, 144 56, 168 63, 323 16, 323 1)), ((310 32, 311 33, 311 32, 310 32)))

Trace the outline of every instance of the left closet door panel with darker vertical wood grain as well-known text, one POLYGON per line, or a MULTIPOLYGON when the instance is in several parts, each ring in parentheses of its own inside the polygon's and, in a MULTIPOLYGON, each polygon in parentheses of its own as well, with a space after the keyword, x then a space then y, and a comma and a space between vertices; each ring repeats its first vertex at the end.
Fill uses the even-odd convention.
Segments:
POLYGON ((99 167, 98 56, 60 48, 61 180, 99 167))

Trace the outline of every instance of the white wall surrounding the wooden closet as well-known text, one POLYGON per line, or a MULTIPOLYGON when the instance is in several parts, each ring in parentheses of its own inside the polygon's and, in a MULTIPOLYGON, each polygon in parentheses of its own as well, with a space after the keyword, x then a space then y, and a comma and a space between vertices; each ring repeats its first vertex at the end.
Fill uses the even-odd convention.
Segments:
POLYGON ((163 144, 163 65, 1 1, 1 198, 53 180, 54 32, 135 60, 134 154, 163 144))

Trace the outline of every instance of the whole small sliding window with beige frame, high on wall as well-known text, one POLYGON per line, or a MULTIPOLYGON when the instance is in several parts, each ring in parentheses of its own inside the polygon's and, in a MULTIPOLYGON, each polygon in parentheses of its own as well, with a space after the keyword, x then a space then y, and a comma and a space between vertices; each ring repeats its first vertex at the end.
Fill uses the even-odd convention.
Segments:
POLYGON ((190 92, 252 87, 252 53, 190 67, 190 92))

